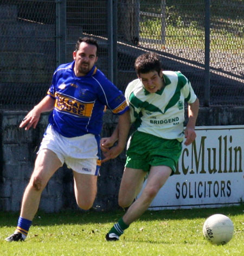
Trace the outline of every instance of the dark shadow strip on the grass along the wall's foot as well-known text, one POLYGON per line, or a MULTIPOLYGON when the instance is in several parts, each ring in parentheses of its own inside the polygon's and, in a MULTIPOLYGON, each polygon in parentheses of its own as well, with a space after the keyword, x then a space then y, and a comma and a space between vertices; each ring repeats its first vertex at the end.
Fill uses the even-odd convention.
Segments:
MULTIPOLYGON (((88 224, 88 223, 114 223, 123 216, 123 209, 105 212, 105 211, 78 211, 65 210, 60 213, 44 213, 38 211, 33 226, 52 226, 62 224, 88 224)), ((153 220, 193 220, 195 218, 207 218, 213 214, 224 214, 228 216, 244 215, 244 203, 239 206, 223 208, 201 208, 201 209, 177 209, 177 210, 147 210, 141 217, 142 221, 153 220)), ((17 224, 18 213, 0 212, 0 227, 15 227, 17 224)))

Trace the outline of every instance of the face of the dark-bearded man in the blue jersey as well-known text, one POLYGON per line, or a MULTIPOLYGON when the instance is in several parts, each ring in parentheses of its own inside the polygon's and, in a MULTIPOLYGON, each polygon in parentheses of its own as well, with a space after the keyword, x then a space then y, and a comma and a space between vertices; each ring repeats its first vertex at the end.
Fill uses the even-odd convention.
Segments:
POLYGON ((97 47, 86 42, 81 42, 79 50, 73 52, 75 60, 74 72, 76 76, 85 76, 97 62, 97 47))

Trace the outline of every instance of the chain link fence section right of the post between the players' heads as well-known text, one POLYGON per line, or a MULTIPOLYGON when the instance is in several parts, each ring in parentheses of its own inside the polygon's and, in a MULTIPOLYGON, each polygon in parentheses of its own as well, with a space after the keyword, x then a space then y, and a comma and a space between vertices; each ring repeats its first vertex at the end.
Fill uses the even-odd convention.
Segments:
POLYGON ((130 65, 135 48, 157 52, 165 70, 190 79, 202 106, 244 104, 243 1, 118 1, 118 13, 118 40, 135 46, 130 65))

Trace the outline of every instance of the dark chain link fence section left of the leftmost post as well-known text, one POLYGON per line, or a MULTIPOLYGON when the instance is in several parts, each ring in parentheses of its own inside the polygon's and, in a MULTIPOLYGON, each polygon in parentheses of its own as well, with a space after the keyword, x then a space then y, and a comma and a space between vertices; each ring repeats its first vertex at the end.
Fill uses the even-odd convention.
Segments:
POLYGON ((0 105, 34 105, 56 67, 54 1, 0 2, 0 105))

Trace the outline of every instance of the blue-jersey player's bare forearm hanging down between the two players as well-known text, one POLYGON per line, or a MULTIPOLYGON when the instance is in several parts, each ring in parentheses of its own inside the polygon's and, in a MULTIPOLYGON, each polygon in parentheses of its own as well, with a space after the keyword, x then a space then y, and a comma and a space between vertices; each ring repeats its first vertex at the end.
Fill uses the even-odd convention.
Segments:
POLYGON ((102 160, 102 163, 118 157, 118 155, 123 151, 126 145, 130 126, 131 126, 130 111, 126 111, 124 114, 119 116, 118 125, 115 128, 112 136, 109 138, 101 139, 101 148, 105 155, 105 159, 102 160), (117 145, 108 149, 108 147, 111 147, 113 143, 117 141, 117 139, 118 139, 117 145))

